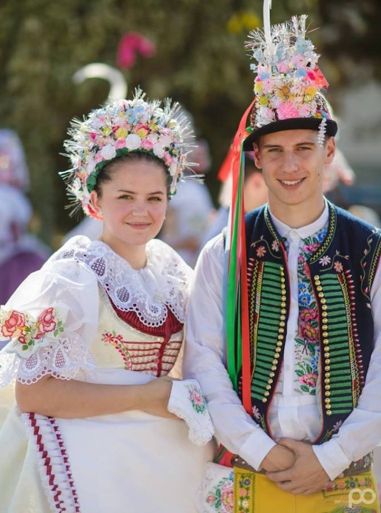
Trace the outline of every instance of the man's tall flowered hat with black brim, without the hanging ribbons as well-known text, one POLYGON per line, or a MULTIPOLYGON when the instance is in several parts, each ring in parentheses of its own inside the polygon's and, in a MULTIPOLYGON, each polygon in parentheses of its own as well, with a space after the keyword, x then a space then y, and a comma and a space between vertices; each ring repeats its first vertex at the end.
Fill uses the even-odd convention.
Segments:
POLYGON ((250 32, 245 45, 256 61, 251 65, 256 77, 251 133, 244 150, 251 150, 260 135, 280 130, 319 130, 320 140, 337 132, 323 95, 329 84, 317 66, 319 55, 306 37, 307 16, 270 26, 270 8, 271 0, 265 0, 264 29, 250 32))

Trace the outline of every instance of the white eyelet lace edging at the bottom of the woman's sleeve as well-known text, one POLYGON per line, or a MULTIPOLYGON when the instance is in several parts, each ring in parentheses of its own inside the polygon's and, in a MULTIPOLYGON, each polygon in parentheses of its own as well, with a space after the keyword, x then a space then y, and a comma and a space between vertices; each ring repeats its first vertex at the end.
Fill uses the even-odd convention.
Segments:
POLYGON ((87 347, 76 334, 59 338, 54 344, 40 348, 28 359, 17 358, 6 349, 0 353, 0 387, 14 378, 24 385, 36 383, 51 374, 62 380, 94 381, 96 363, 87 347))

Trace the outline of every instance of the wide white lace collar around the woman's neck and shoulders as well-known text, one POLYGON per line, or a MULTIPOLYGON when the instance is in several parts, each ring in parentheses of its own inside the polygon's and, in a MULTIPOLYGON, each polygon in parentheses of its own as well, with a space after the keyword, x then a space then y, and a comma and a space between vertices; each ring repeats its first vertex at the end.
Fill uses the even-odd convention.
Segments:
POLYGON ((113 304, 125 312, 135 311, 146 326, 164 324, 167 307, 184 323, 192 269, 176 251, 157 239, 147 243, 146 253, 146 267, 135 270, 107 244, 76 236, 50 261, 74 259, 84 262, 113 304))

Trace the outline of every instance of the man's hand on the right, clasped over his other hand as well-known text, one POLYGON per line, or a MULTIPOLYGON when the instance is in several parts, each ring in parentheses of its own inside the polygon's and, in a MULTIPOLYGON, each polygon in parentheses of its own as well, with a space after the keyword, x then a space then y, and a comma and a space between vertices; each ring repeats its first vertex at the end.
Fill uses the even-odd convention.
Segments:
POLYGON ((268 478, 279 488, 292 494, 308 495, 328 486, 331 480, 316 458, 311 444, 290 438, 281 438, 278 444, 291 449, 295 454, 295 463, 288 470, 267 472, 268 478))

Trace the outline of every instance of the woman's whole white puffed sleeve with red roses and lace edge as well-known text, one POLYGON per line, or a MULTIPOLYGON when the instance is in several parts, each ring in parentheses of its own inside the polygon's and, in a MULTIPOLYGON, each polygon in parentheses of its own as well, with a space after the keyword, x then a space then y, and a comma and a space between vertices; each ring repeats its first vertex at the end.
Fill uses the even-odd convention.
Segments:
POLYGON ((98 325, 98 285, 74 260, 48 261, 0 310, 0 386, 35 383, 46 374, 91 381, 89 345, 98 325))

